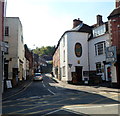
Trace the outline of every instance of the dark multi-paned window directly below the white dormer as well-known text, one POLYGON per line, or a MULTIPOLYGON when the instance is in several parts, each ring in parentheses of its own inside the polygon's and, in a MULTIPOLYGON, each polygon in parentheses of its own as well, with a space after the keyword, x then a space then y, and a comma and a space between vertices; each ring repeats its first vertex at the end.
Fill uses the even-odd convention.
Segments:
POLYGON ((99 42, 95 44, 95 54, 96 56, 102 55, 105 53, 105 42, 99 42))

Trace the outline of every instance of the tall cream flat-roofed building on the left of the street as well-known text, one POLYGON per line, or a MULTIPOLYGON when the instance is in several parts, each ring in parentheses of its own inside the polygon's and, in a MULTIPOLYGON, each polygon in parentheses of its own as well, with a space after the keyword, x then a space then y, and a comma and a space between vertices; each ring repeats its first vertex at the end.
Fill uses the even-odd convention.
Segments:
POLYGON ((24 42, 22 24, 18 17, 5 18, 5 40, 9 48, 5 53, 5 79, 13 86, 24 79, 24 42))

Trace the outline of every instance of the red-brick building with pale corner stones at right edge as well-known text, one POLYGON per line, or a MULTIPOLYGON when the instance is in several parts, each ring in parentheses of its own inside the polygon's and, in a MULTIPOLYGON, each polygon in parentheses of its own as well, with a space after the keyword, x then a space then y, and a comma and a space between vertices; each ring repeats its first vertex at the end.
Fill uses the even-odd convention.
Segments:
POLYGON ((120 0, 116 0, 116 8, 108 16, 110 44, 116 46, 117 62, 112 63, 112 84, 120 87, 120 0))

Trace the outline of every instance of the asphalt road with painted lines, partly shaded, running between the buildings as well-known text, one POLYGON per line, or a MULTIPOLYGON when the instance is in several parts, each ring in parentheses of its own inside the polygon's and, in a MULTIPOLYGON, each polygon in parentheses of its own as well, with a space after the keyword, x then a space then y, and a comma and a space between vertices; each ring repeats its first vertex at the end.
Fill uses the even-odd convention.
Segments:
POLYGON ((65 88, 44 76, 43 81, 31 83, 19 93, 3 100, 3 115, 118 115, 118 94, 86 92, 65 88))

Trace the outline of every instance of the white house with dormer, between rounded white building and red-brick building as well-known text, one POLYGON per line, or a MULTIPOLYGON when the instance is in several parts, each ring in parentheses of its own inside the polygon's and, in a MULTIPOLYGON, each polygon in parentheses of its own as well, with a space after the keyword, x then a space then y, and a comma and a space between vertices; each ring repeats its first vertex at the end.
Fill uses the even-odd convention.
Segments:
POLYGON ((106 47, 109 47, 108 22, 102 21, 102 16, 97 15, 97 24, 92 29, 93 37, 89 40, 89 71, 90 80, 111 81, 108 69, 110 64, 106 63, 106 47), (101 80, 97 79, 100 78, 101 80))

